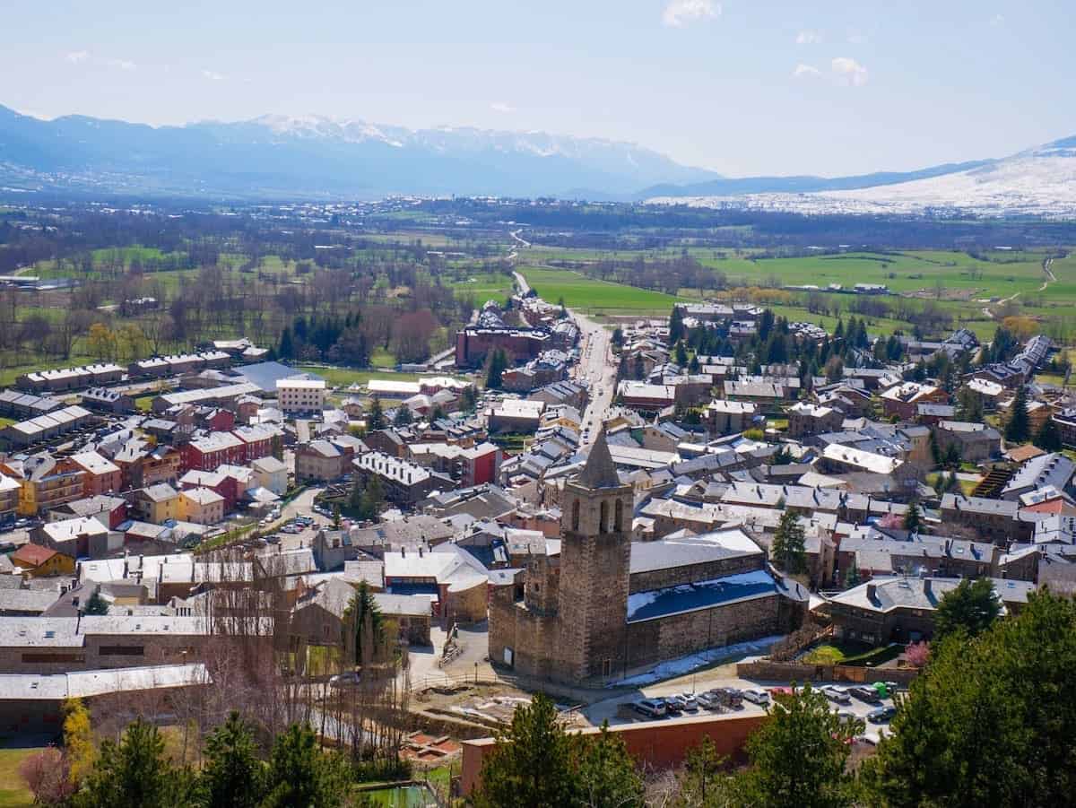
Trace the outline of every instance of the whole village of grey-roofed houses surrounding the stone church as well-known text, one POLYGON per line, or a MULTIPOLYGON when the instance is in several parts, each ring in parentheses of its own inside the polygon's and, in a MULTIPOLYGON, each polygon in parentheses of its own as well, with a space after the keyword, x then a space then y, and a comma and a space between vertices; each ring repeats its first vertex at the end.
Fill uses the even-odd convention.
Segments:
POLYGON ((813 680, 876 746, 947 593, 1019 614, 1076 584, 1076 399, 1037 378, 1067 360, 999 335, 599 324, 523 282, 415 381, 334 386, 241 337, 26 373, 0 392, 0 725, 55 733, 69 698, 211 724, 263 689, 354 742, 368 607, 396 649, 378 754, 455 766, 456 795, 537 692, 677 765, 813 680))

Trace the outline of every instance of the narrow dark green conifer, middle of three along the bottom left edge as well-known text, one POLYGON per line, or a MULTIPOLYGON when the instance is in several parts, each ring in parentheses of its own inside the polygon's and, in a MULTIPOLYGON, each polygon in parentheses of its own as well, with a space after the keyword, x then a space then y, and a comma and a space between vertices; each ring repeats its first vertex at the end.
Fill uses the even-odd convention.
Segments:
POLYGON ((254 734, 236 710, 206 739, 201 788, 210 806, 255 808, 263 796, 254 734))

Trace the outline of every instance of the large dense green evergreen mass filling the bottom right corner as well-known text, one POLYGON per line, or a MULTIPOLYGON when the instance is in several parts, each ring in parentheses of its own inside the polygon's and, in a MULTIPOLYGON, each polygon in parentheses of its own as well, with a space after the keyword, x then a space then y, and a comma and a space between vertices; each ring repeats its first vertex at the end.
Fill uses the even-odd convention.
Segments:
POLYGON ((1033 594, 976 638, 931 643, 866 762, 864 805, 1070 805, 1076 793, 1076 603, 1033 594))

